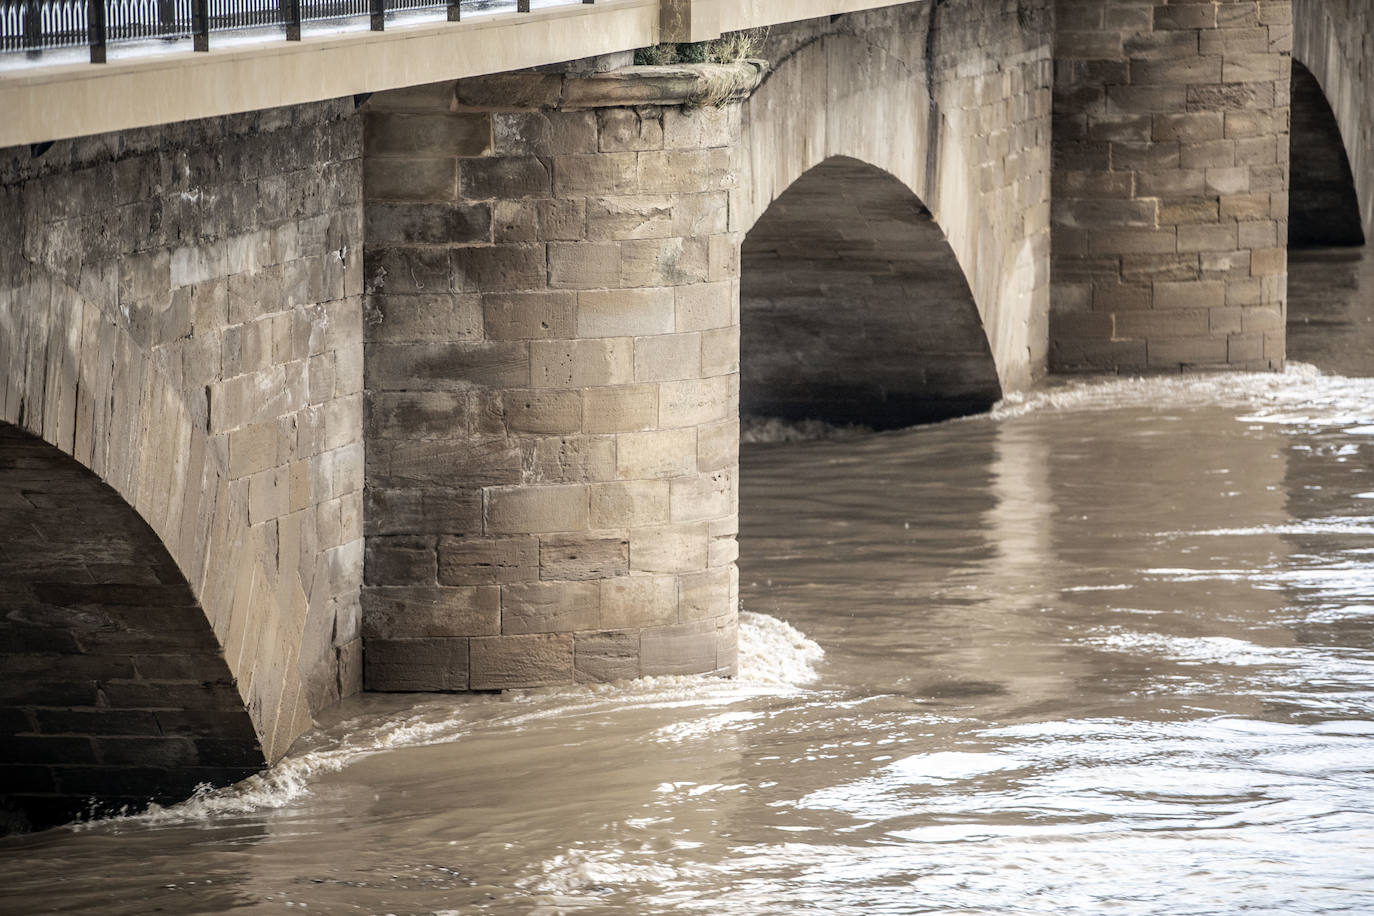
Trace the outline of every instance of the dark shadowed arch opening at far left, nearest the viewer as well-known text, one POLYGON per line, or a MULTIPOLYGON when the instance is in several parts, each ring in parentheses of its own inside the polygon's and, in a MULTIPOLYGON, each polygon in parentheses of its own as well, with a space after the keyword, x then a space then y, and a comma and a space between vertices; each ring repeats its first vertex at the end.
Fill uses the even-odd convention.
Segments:
POLYGON ((265 765, 205 612, 95 474, 0 423, 0 834, 265 765))

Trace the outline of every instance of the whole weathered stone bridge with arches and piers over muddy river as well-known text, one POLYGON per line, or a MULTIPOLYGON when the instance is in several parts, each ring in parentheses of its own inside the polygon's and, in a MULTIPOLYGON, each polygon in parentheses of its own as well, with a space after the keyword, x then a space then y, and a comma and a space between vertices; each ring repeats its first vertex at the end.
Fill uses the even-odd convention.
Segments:
POLYGON ((1369 16, 602 0, 0 71, 8 810, 360 689, 732 673, 741 409, 1282 367, 1290 206, 1374 216, 1369 16))

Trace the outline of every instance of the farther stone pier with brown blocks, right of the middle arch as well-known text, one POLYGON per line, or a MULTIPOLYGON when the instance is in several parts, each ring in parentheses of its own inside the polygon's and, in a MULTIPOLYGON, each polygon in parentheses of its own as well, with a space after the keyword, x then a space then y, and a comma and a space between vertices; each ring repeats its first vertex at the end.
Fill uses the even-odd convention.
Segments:
POLYGON ((1283 364, 1286 1, 1061 3, 1051 368, 1283 364))

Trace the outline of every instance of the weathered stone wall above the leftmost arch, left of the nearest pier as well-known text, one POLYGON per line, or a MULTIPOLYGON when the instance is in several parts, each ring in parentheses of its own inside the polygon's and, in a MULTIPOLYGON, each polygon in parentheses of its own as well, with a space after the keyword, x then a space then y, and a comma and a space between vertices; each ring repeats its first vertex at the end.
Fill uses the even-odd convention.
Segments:
POLYGON ((360 141, 344 102, 0 154, 0 420, 147 522, 269 761, 361 677, 360 141))

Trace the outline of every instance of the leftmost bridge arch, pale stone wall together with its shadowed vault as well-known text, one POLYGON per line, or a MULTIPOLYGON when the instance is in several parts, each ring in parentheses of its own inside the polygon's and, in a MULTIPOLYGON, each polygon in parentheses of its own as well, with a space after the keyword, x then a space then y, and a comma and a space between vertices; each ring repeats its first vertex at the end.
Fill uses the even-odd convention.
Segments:
POLYGON ((81 507, 113 519, 143 558, 117 564, 136 581, 95 580, 103 602, 51 577, 91 582, 109 538, 73 530, 60 555, 21 552, 41 569, 8 570, 32 582, 3 595, 7 626, 29 628, 34 602, 58 608, 32 652, 0 644, 0 765, 14 777, 0 794, 45 797, 30 799, 36 824, 73 792, 82 808, 166 799, 273 762, 312 711, 356 691, 361 273, 345 275, 345 253, 361 207, 300 184, 328 168, 349 187, 350 118, 352 106, 316 106, 0 151, 0 424, 25 453, 0 463, 0 519, 41 519, 56 499, 26 496, 37 461, 77 503, 54 519, 74 527, 81 507), (117 652, 77 633, 87 623, 153 626, 165 651, 124 636, 132 648, 107 665, 117 652), (100 692, 36 680, 45 662, 100 692), (135 703, 148 683, 161 706, 135 703), (67 707, 89 714, 54 732, 41 710, 67 707), (158 714, 206 707, 196 733, 158 714), (157 735, 126 731, 153 726, 132 711, 153 711, 157 735), (115 737, 137 746, 117 753, 115 737), (69 754, 91 764, 80 780, 58 772, 69 754))

